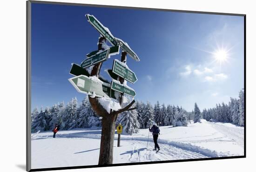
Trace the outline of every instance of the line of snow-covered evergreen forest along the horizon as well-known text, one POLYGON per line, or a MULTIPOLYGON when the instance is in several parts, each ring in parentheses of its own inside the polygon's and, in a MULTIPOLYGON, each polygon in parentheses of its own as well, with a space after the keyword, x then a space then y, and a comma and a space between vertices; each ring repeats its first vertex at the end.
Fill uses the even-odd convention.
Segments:
MULTIPOLYGON (((116 124, 121 123, 123 131, 128 134, 137 133, 140 128, 152 126, 153 121, 159 126, 187 126, 188 121, 199 122, 200 119, 230 122, 243 126, 244 122, 244 92, 239 93, 239 99, 230 98, 229 105, 218 104, 215 108, 204 109, 200 112, 197 104, 192 112, 174 105, 160 105, 156 102, 154 107, 150 102, 137 101, 133 107, 136 110, 123 112, 118 116, 116 124)), ((61 126, 61 130, 74 128, 89 128, 101 126, 101 118, 98 117, 89 103, 88 96, 78 105, 73 98, 67 105, 64 102, 52 107, 41 108, 40 112, 35 108, 32 112, 32 132, 52 130, 55 124, 61 126)))

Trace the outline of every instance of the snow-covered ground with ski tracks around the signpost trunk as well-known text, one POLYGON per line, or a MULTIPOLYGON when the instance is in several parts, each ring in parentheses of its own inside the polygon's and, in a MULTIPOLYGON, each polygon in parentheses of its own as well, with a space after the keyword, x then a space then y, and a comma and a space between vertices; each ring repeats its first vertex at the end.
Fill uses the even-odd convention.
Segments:
MULTIPOLYGON (((198 159, 244 155, 243 127, 229 123, 191 123, 187 127, 161 126, 160 152, 152 151, 154 142, 148 129, 121 135, 121 147, 114 143, 114 163, 198 159)), ((100 128, 32 134, 32 168, 97 165, 100 152, 100 128)))

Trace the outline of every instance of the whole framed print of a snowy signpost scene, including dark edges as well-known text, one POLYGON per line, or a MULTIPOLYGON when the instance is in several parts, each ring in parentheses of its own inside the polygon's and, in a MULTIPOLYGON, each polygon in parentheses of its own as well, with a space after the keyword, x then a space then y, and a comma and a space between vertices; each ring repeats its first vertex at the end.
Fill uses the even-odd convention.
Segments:
POLYGON ((27 1, 27 171, 245 158, 245 19, 27 1))

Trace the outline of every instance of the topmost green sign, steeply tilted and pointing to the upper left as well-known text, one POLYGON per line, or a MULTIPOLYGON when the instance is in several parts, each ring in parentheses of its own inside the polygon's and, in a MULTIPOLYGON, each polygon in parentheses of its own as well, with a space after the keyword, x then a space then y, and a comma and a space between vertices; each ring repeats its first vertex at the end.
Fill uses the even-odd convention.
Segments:
POLYGON ((90 14, 86 14, 85 16, 88 18, 88 22, 90 22, 113 46, 117 45, 115 37, 110 33, 107 27, 103 26, 101 22, 96 19, 96 17, 90 14))

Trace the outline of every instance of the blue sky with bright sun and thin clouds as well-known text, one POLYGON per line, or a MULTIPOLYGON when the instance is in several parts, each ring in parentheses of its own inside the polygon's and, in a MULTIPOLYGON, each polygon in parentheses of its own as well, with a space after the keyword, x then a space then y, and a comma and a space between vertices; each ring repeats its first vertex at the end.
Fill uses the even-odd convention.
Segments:
MULTIPOLYGON (((228 103, 243 88, 243 17, 32 3, 32 108, 73 97, 80 102, 86 96, 67 80, 71 63, 80 64, 97 50, 99 33, 86 13, 139 56, 140 62, 127 57, 138 78, 128 83, 137 93, 135 100, 159 100, 188 111, 197 102, 202 110, 228 103), (226 52, 222 62, 218 52, 226 52)), ((101 67, 100 74, 109 81, 104 70, 120 54, 101 67)))

